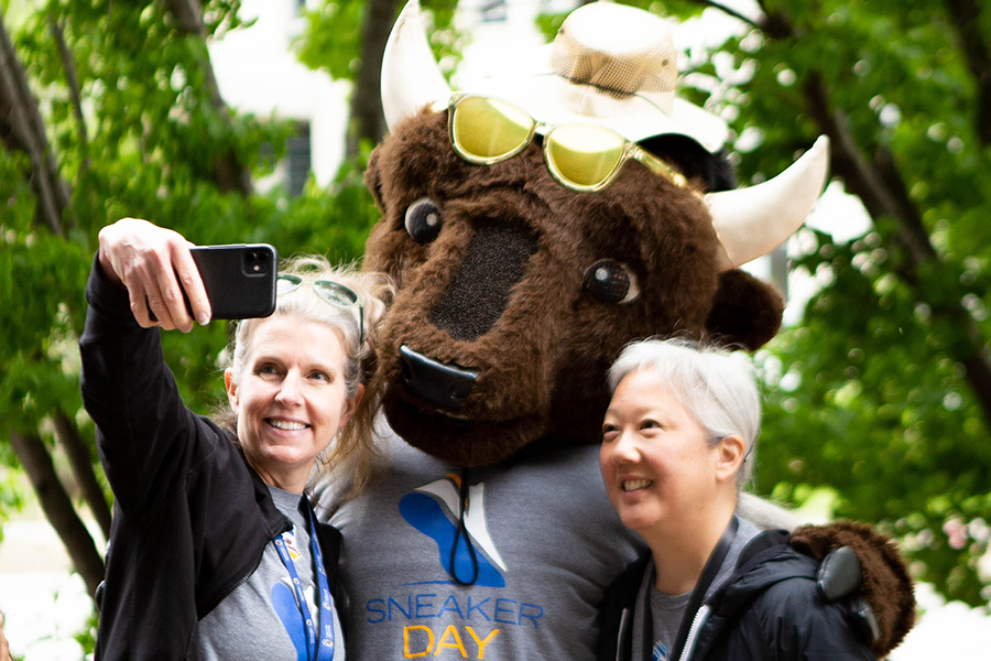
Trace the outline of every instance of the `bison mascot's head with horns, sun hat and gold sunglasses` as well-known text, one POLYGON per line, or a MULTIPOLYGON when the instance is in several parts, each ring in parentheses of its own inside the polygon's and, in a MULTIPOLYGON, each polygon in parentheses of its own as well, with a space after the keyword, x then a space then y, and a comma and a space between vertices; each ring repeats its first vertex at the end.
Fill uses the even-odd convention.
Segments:
POLYGON ((821 192, 820 139, 777 177, 730 176, 725 124, 675 96, 658 17, 575 10, 534 71, 453 94, 413 0, 385 50, 391 136, 367 181, 382 212, 366 268, 398 294, 379 356, 406 442, 477 466, 536 442, 595 443, 605 372, 634 338, 749 350, 783 301, 739 266, 802 224, 821 192))

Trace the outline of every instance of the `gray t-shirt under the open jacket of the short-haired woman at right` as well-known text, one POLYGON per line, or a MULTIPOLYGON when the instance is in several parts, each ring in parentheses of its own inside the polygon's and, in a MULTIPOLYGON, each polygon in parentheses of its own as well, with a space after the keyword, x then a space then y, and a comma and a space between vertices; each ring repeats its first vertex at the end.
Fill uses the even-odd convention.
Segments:
MULTIPOLYGON (((737 566, 740 553, 750 540, 760 533, 760 529, 747 521, 740 519, 740 527, 730 544, 726 559, 716 574, 716 578, 706 589, 706 599, 719 589, 727 582, 737 566)), ((678 636, 678 629, 682 626, 682 618, 685 615, 685 608, 688 607, 688 599, 691 593, 687 592, 682 595, 664 595, 654 588, 654 560, 651 559, 646 570, 643 573, 643 581, 640 584, 640 592, 636 595, 638 608, 633 614, 633 639, 630 650, 631 659, 643 659, 643 628, 644 628, 644 609, 639 605, 645 603, 647 593, 651 599, 651 617, 652 633, 654 638, 653 649, 651 650, 651 661, 668 661, 668 654, 674 647, 675 639, 678 636)), ((694 614, 693 614, 694 615, 694 614)))

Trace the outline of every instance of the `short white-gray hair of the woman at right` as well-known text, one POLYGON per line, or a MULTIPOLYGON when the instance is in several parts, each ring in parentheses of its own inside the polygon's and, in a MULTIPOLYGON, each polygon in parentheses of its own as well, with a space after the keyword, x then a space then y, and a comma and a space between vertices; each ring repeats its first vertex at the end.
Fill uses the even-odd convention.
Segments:
POLYGON ((609 391, 630 372, 646 370, 671 388, 715 445, 725 436, 743 438, 745 454, 737 484, 750 481, 761 427, 761 398, 749 358, 685 339, 644 339, 627 345, 609 368, 609 391))

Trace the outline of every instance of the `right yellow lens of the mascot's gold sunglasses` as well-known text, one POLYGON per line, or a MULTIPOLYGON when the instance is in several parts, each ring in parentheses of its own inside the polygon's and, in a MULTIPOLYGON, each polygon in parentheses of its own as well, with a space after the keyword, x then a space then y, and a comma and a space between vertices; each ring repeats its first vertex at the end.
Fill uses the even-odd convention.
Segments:
POLYGON ((607 182, 622 162, 625 147, 618 133, 585 124, 555 127, 544 140, 551 172, 578 188, 607 182))

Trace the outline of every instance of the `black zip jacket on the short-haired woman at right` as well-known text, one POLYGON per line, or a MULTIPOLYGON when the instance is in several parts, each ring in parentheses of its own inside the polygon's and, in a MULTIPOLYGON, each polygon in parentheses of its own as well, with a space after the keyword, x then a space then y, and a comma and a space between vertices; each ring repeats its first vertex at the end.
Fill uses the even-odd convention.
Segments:
MULTIPOLYGON (((686 614, 700 617, 685 644, 689 653, 668 661, 874 659, 850 626, 847 608, 819 596, 818 563, 788 546, 787 540, 782 531, 751 540, 727 582, 697 614, 686 614)), ((633 661, 633 611, 647 560, 627 567, 606 593, 599 661, 633 661)), ((649 661, 650 646, 644 654, 649 661)))

